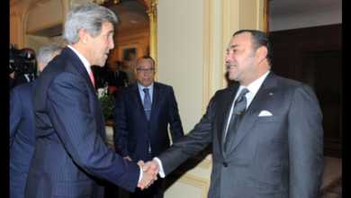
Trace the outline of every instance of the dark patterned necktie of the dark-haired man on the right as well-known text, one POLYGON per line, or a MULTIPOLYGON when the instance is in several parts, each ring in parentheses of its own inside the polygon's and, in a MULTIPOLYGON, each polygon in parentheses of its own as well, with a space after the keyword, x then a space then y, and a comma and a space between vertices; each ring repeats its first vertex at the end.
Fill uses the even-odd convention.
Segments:
POLYGON ((224 142, 224 151, 228 152, 228 149, 233 142, 235 134, 238 130, 238 125, 241 118, 244 116, 244 112, 247 108, 247 97, 245 96, 248 93, 247 88, 241 90, 241 93, 238 95, 237 101, 234 104, 233 112, 231 114, 227 137, 224 142))

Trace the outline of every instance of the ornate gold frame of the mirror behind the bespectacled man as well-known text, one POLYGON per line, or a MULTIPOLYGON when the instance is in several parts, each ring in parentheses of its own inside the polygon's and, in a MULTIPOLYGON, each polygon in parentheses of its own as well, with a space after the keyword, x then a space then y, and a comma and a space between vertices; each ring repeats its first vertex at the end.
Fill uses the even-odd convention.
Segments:
MULTIPOLYGON (((93 1, 93 4, 96 4, 97 0, 93 1)), ((124 1, 137 1, 141 4, 144 4, 148 11, 149 16, 149 27, 150 27, 150 39, 149 39, 149 46, 150 46, 150 57, 154 58, 155 60, 155 81, 157 81, 157 0, 100 0, 98 4, 108 7, 112 4, 117 4, 124 1), (101 4, 103 2, 103 4, 101 4), (117 2, 117 3, 115 3, 117 2)))

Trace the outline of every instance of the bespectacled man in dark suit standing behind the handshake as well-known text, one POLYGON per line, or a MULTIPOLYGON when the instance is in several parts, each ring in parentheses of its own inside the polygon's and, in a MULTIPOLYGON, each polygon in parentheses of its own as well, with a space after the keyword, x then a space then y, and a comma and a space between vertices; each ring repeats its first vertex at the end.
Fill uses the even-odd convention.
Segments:
MULTIPOLYGON (((140 58, 135 74, 138 83, 121 89, 116 100, 114 146, 118 154, 130 161, 149 161, 169 148, 168 123, 176 139, 183 137, 184 131, 173 88, 154 82, 154 59, 140 58)), ((165 179, 159 178, 148 190, 130 193, 130 197, 163 197, 164 187, 165 179)))

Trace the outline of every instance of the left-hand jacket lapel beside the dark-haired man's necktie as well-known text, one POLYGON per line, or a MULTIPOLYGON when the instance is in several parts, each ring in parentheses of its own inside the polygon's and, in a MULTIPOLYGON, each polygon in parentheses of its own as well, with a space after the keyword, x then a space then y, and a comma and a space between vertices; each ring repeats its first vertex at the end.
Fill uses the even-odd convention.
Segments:
POLYGON ((217 120, 217 134, 218 134, 218 139, 219 143, 221 145, 220 147, 220 152, 222 156, 224 157, 224 136, 228 124, 228 118, 229 118, 229 113, 231 109, 231 105, 234 101, 235 95, 238 92, 238 84, 231 85, 227 89, 224 90, 224 95, 223 99, 220 100, 220 107, 219 107, 219 112, 220 114, 218 115, 218 120, 217 120))

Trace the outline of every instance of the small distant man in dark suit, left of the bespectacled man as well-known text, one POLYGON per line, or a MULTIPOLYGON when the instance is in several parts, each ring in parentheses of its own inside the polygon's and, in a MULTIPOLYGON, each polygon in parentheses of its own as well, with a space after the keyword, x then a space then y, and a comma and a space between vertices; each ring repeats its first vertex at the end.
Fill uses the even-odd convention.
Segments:
POLYGON ((109 72, 107 76, 109 85, 115 86, 117 89, 124 87, 125 83, 128 83, 128 77, 124 71, 121 71, 121 61, 114 61, 111 68, 112 72, 109 72))

